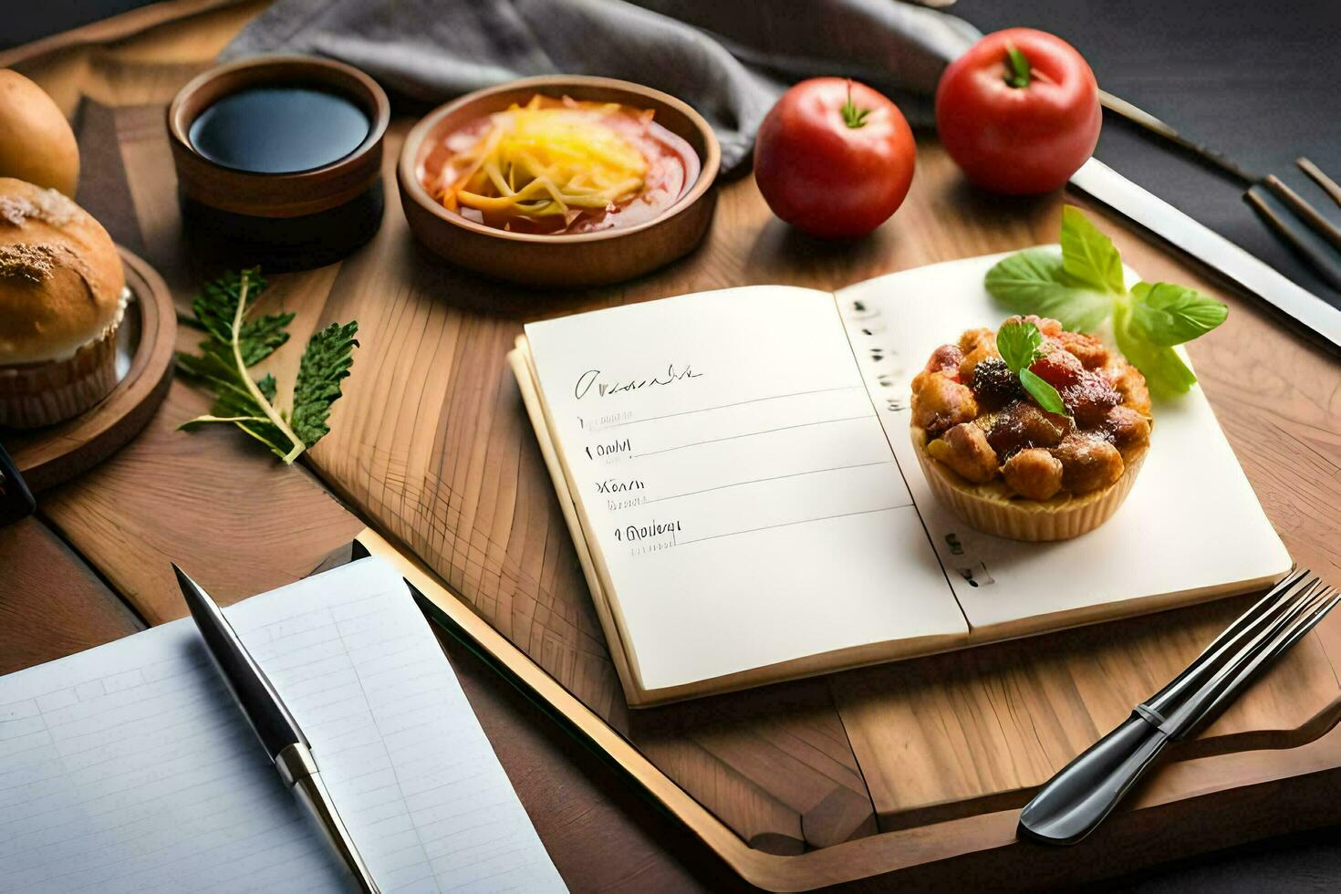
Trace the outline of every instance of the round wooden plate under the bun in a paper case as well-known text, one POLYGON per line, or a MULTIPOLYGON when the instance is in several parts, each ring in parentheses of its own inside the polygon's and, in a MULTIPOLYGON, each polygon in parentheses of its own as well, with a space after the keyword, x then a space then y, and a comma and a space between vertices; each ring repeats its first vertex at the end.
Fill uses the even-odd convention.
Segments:
POLYGON ((145 428, 168 394, 177 342, 172 292, 149 264, 117 248, 133 292, 117 334, 117 387, 67 422, 35 432, 0 430, 34 493, 68 481, 115 453, 145 428))

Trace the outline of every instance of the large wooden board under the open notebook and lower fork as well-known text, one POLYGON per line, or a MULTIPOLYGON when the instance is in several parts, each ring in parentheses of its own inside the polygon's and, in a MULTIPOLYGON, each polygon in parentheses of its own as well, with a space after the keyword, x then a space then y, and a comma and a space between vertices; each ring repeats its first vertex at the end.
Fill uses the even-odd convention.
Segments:
MULTIPOLYGON (((162 110, 115 115, 146 253, 184 300, 198 279, 164 174, 162 110)), ((389 159, 406 126, 393 122, 389 159)), ((1031 792, 1183 667, 1242 599, 680 705, 625 706, 507 350, 526 319, 723 285, 831 290, 1055 240, 1059 197, 987 200, 963 186, 937 146, 920 153, 905 208, 872 239, 801 237, 743 180, 723 188, 713 232, 685 260, 570 294, 447 267, 413 243, 388 193, 369 245, 339 265, 274 277, 263 299, 298 314, 299 346, 304 327, 359 322, 362 347, 333 432, 310 453, 312 470, 369 520, 382 547, 414 556, 398 560, 440 619, 755 885, 798 890, 882 873, 923 885, 1081 881, 1341 819, 1341 803, 1317 784, 1341 767, 1341 735, 1329 732, 1341 716, 1333 672, 1341 618, 1333 618, 1092 839, 1065 851, 1014 842, 1031 792)), ((1147 276, 1231 304, 1230 320, 1192 347, 1193 362, 1293 555, 1336 575, 1334 546, 1320 533, 1334 524, 1320 513, 1341 500, 1341 483, 1311 469, 1316 445, 1341 442, 1341 426, 1310 409, 1338 386, 1336 365, 1117 220, 1066 200, 1086 205, 1147 276), (1255 378, 1259 369, 1273 374, 1255 378)), ((278 378, 292 378, 299 354, 275 354, 278 378)))

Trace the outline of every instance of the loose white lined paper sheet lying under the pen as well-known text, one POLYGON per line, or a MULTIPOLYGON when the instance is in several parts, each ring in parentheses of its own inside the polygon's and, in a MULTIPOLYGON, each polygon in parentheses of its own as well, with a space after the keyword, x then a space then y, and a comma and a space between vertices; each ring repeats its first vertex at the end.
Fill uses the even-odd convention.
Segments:
MULTIPOLYGON (((390 566, 225 613, 384 891, 563 890, 390 566)), ((0 678, 0 891, 351 889, 189 619, 0 678)))

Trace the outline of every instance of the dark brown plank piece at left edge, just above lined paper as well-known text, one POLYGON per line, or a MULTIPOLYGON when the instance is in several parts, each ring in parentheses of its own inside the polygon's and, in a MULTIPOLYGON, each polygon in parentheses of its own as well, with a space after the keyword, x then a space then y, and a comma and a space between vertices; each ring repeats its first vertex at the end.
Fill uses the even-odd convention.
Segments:
POLYGON ((0 674, 142 629, 117 594, 46 524, 0 528, 0 674))

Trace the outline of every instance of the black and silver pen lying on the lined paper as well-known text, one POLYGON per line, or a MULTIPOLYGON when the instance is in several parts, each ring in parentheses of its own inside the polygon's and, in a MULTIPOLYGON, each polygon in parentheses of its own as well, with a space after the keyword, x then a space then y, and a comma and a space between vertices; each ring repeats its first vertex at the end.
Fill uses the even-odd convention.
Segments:
POLYGON ((279 777, 316 818, 327 840, 349 866, 359 887, 369 894, 378 894, 373 874, 363 863, 363 858, 359 856, 354 839, 335 810, 335 802, 331 800, 326 784, 322 783, 320 771, 298 721, 288 713, 284 701, 275 692, 260 665, 247 651, 247 646, 237 638, 228 618, 224 617, 209 594, 201 590, 200 584, 186 576, 176 564, 172 568, 177 572, 177 584, 186 598, 186 606, 190 609, 192 618, 196 619, 196 626, 200 627, 200 635, 205 639, 209 657, 219 673, 223 674, 229 692, 241 705, 260 744, 266 747, 270 759, 275 761, 279 777))

